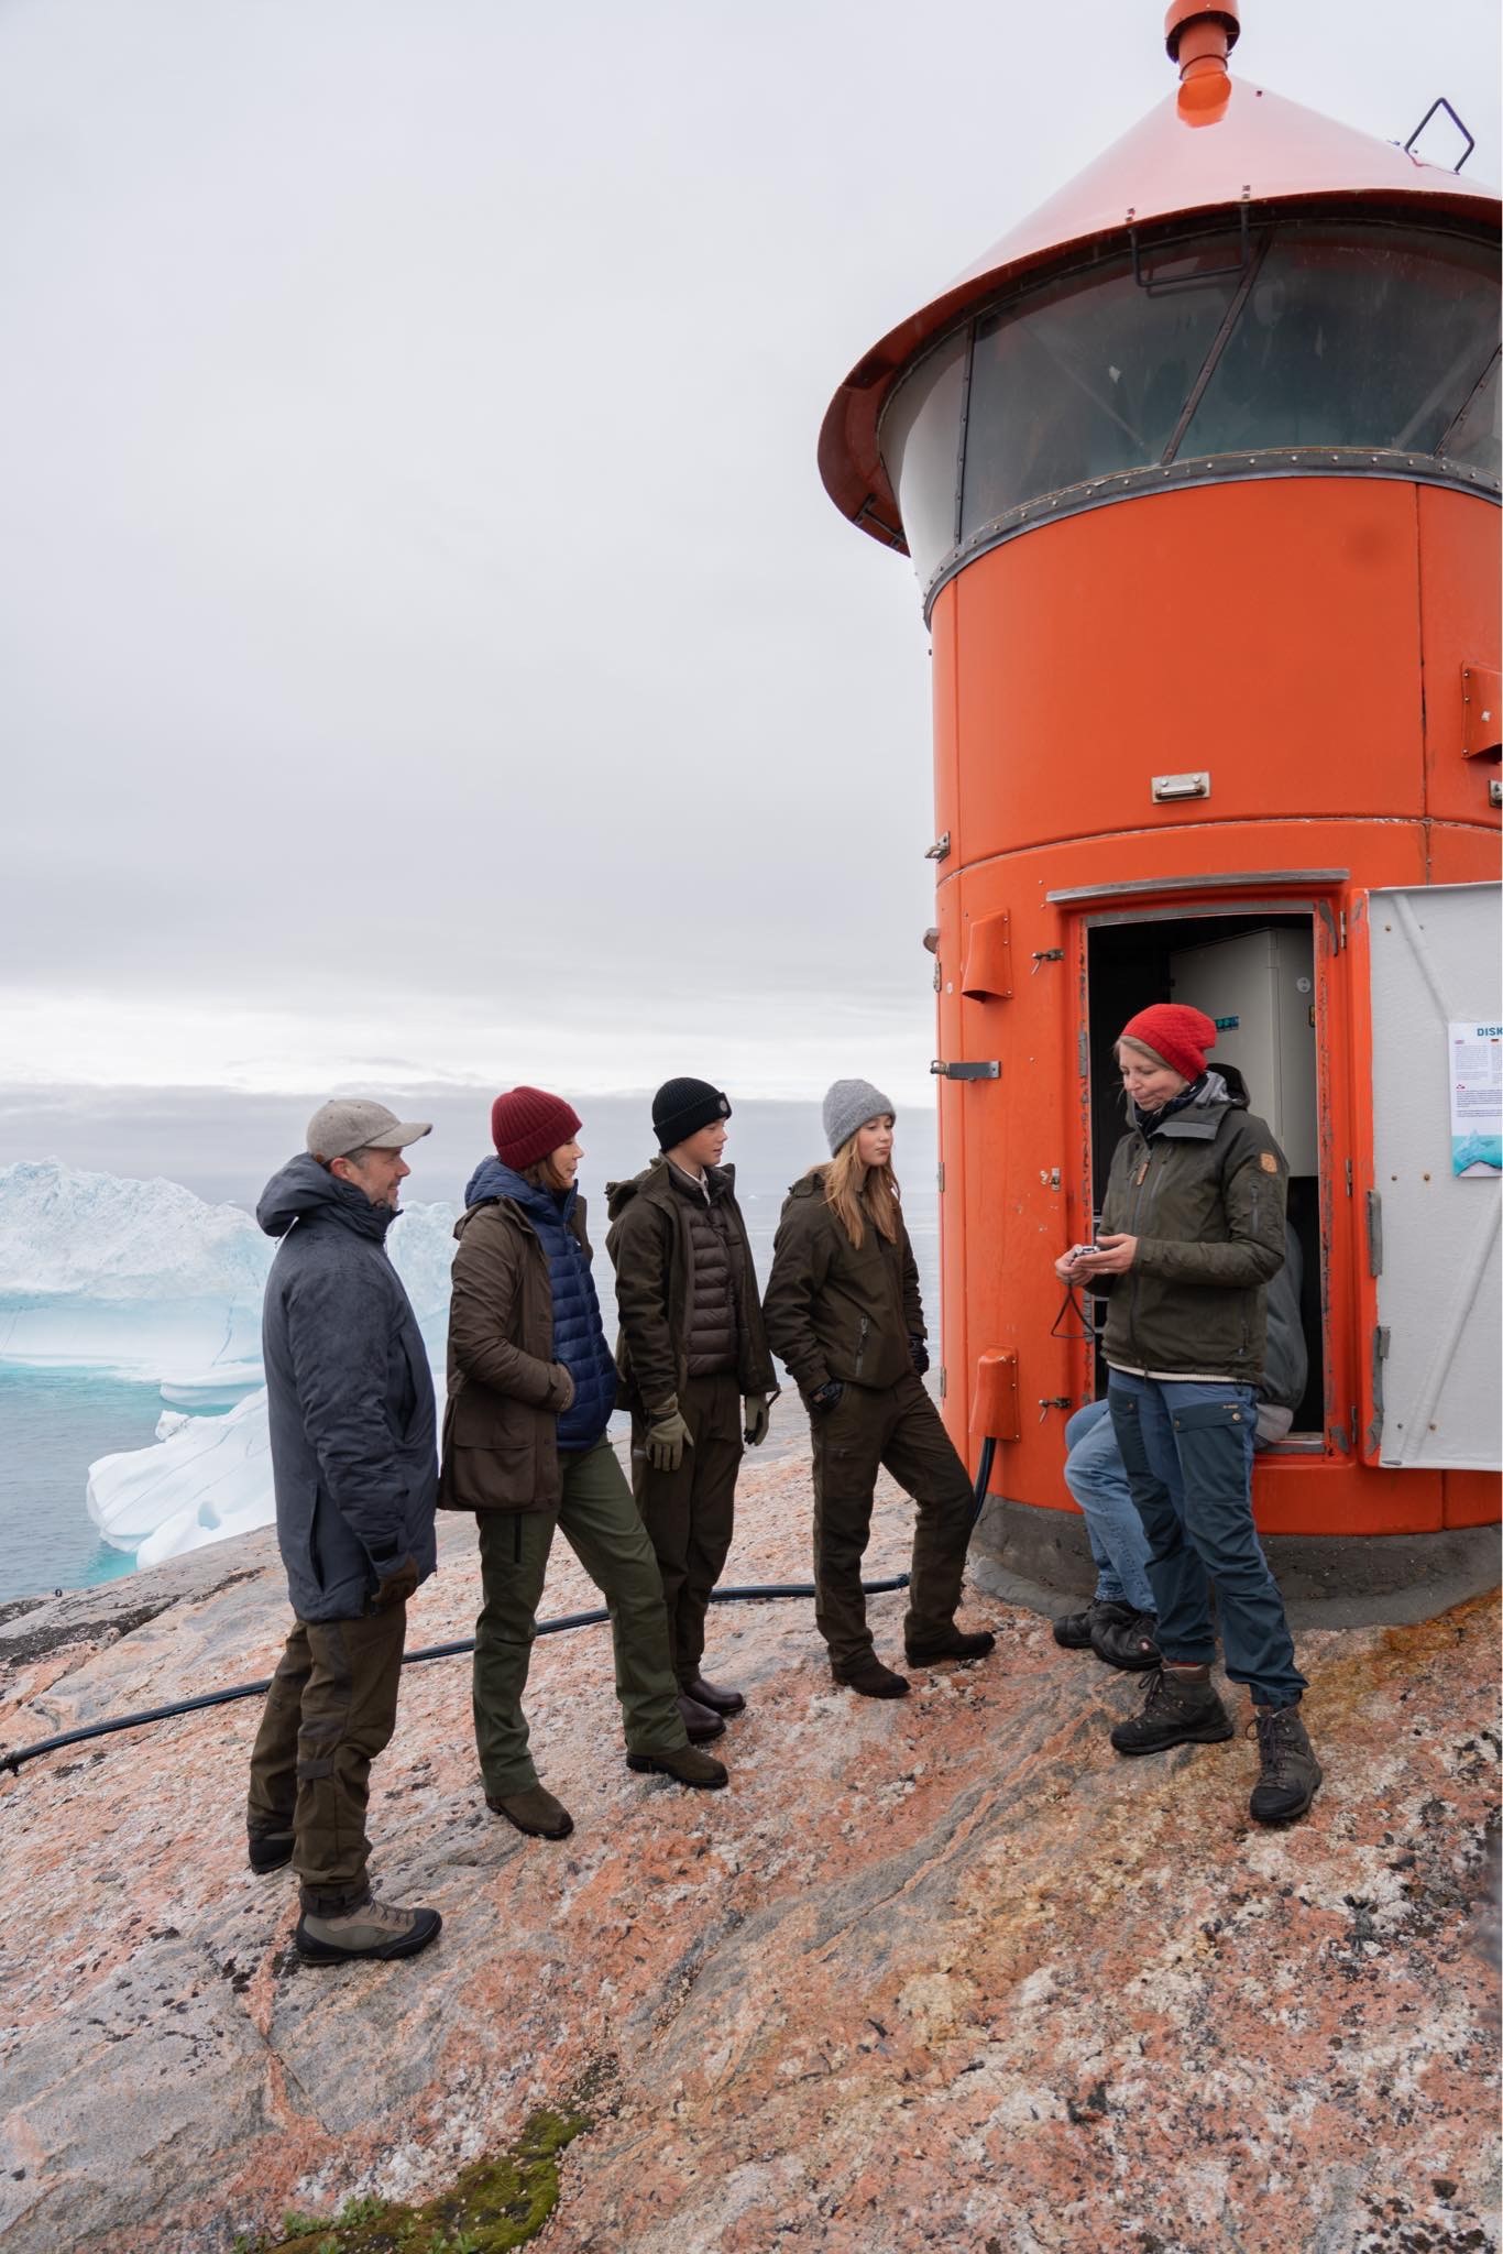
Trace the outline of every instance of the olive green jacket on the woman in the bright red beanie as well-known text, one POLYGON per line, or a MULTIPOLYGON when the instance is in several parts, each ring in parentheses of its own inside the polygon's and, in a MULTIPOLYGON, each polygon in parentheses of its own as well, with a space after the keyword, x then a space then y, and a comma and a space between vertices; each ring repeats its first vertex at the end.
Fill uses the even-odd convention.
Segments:
POLYGON ((1266 1287, 1284 1264, 1289 1165, 1273 1132, 1219 1073, 1179 1111, 1138 1120, 1115 1147, 1102 1235, 1138 1237, 1106 1296, 1111 1368, 1142 1377, 1264 1373, 1266 1287))

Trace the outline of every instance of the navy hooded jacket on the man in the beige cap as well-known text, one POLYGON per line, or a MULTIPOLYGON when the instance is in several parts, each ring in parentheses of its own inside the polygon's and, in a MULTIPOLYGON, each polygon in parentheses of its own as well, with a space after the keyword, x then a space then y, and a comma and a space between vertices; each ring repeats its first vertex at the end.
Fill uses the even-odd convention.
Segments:
POLYGON ((318 1159, 266 1183, 257 1222, 282 1237, 266 1278, 261 1350, 277 1544, 300 1621, 349 1621, 437 1546, 433 1370, 385 1253, 397 1215, 318 1159))

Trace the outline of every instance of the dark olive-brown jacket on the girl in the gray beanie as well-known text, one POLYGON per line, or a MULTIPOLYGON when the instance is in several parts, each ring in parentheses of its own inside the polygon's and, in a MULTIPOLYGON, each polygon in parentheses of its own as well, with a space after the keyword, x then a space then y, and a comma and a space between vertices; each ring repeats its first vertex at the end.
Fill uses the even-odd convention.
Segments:
POLYGON ((897 1244, 874 1222, 852 1244, 825 1204, 825 1170, 804 1174, 784 1199, 762 1314, 773 1352, 804 1395, 831 1377, 850 1386, 913 1377, 908 1339, 924 1337, 924 1303, 901 1215, 897 1244))

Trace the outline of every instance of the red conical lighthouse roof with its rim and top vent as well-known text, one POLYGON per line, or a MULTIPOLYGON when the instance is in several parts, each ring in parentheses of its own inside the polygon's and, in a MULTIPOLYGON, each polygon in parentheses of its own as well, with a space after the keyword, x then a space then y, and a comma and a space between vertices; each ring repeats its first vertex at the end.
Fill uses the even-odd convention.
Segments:
POLYGON ((1176 0, 1165 32, 1183 72, 1179 90, 890 329, 831 399, 820 428, 820 478, 836 507, 874 539, 901 545, 897 500, 877 451, 877 421, 892 385, 942 329, 1007 282, 1104 239, 1127 248, 1129 228, 1239 205, 1361 205, 1413 219, 1456 214, 1498 223, 1494 189, 1230 79, 1233 7, 1176 0))

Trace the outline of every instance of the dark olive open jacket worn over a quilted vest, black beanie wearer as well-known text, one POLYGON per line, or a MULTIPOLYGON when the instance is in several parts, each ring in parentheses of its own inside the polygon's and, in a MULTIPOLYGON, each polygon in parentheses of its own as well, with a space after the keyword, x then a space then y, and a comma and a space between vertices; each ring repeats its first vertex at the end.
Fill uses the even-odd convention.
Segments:
MULTIPOLYGON (((712 1165, 705 1179, 730 1260, 737 1386, 744 1395, 777 1393, 750 1242, 737 1206, 737 1170, 712 1165)), ((667 1400, 683 1397, 694 1328, 694 1195, 674 1181, 667 1159, 653 1159, 631 1181, 606 1183, 606 1251, 615 1264, 615 1310, 622 1319, 615 1350, 622 1409, 658 1411, 667 1400)))

